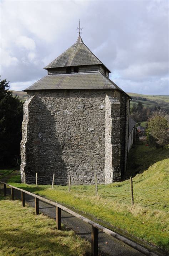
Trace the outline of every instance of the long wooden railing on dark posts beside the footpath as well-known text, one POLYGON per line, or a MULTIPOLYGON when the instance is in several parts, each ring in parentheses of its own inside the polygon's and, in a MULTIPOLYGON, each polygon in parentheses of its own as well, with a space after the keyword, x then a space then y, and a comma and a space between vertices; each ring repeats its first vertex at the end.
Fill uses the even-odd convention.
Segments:
POLYGON ((22 200, 22 206, 25 207, 25 194, 31 195, 35 198, 35 212, 36 214, 39 214, 39 200, 41 200, 42 202, 45 202, 47 204, 53 205, 56 207, 56 227, 57 229, 61 229, 61 209, 67 213, 70 213, 71 215, 75 216, 78 219, 81 219, 82 221, 90 224, 92 226, 92 247, 91 247, 91 255, 92 256, 97 256, 98 255, 98 231, 101 230, 104 233, 108 234, 109 236, 112 236, 120 241, 122 241, 123 243, 126 243, 127 245, 129 245, 130 247, 133 247, 135 250, 142 252, 144 255, 149 255, 149 256, 157 256, 157 254, 155 254, 154 252, 148 250, 147 248, 144 248, 143 246, 129 240, 126 237, 123 237, 113 231, 111 231, 108 228, 105 228, 85 217, 83 217, 82 215, 73 212, 72 210, 66 208, 65 206, 52 202, 51 200, 48 200, 46 198, 43 198, 42 196, 33 194, 29 191, 26 191, 24 189, 20 189, 20 188, 16 188, 12 185, 9 185, 5 182, 0 181, 1 184, 4 184, 4 196, 6 196, 6 186, 9 186, 11 188, 11 196, 12 196, 12 200, 14 200, 14 189, 21 191, 21 200, 22 200))

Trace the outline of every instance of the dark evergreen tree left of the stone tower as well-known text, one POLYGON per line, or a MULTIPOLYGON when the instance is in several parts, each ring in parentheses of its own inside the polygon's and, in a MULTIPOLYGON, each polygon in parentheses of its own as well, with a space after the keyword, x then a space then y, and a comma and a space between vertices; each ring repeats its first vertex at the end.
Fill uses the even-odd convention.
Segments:
POLYGON ((20 156, 23 103, 9 91, 9 82, 0 81, 0 166, 20 156))

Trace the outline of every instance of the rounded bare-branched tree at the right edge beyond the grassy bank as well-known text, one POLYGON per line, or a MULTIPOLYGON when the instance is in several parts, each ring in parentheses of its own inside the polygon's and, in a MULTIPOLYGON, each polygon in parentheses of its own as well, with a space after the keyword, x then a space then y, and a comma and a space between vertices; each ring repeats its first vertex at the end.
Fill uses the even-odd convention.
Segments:
POLYGON ((154 139, 155 144, 162 146, 169 143, 168 123, 165 119, 165 111, 163 109, 157 109, 152 112, 152 115, 148 119, 147 134, 154 139))

